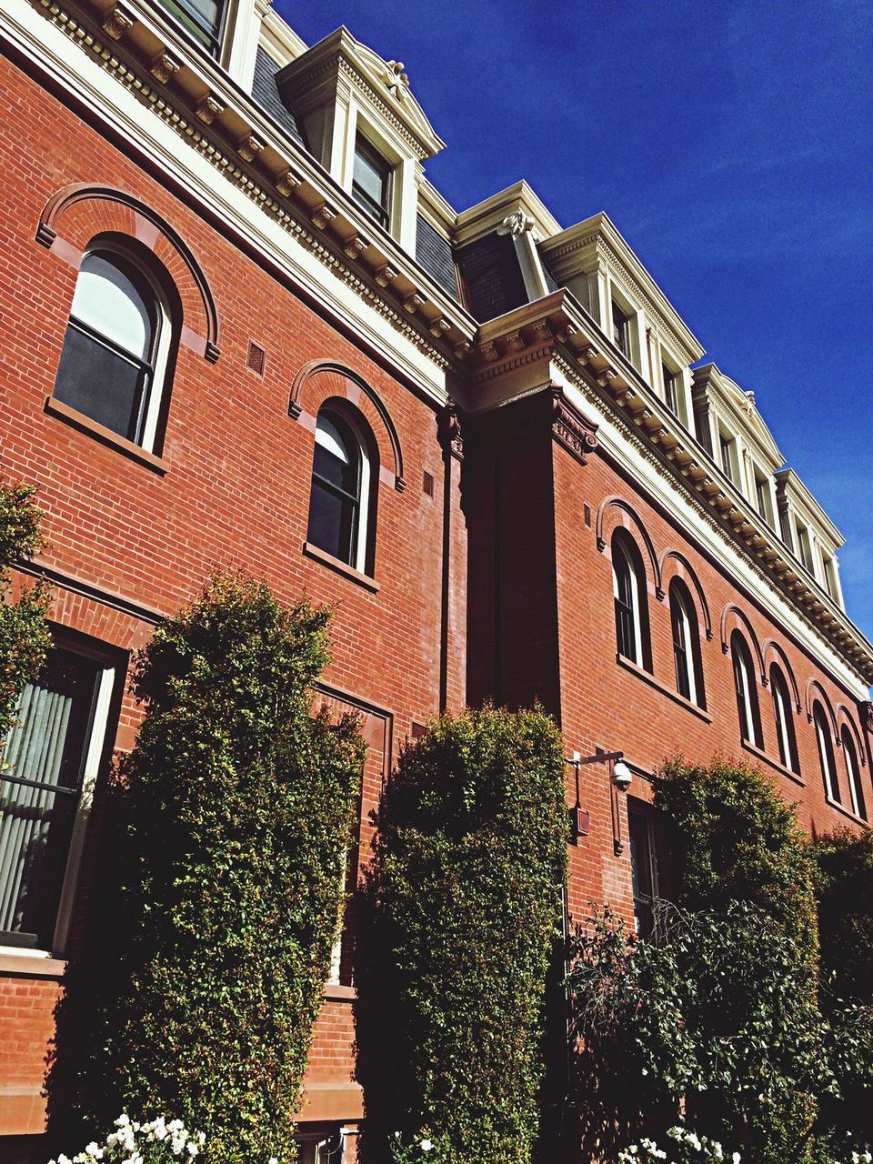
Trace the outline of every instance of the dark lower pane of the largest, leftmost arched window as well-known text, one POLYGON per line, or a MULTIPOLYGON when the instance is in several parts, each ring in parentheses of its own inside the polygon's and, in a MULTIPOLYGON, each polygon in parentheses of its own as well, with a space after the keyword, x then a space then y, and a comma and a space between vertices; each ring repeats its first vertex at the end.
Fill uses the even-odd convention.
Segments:
POLYGON ((55 396, 121 436, 140 439, 147 370, 71 324, 55 396))

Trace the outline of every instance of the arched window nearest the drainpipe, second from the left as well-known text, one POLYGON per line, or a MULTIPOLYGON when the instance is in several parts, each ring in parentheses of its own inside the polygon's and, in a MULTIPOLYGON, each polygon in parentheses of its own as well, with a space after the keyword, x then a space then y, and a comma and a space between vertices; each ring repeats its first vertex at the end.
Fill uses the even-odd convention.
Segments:
POLYGON ((369 567, 370 495, 378 477, 370 443, 348 410, 328 404, 319 412, 306 539, 362 573, 369 567))

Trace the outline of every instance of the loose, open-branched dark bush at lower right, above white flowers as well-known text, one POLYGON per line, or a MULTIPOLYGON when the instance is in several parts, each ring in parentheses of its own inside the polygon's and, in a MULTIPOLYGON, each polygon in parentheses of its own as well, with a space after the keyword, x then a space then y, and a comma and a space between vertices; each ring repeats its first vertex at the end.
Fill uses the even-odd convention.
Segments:
POLYGON ((832 1043, 794 939, 747 902, 656 917, 646 942, 599 915, 573 950, 584 1149, 661 1143, 681 1114, 745 1164, 805 1161, 832 1043))

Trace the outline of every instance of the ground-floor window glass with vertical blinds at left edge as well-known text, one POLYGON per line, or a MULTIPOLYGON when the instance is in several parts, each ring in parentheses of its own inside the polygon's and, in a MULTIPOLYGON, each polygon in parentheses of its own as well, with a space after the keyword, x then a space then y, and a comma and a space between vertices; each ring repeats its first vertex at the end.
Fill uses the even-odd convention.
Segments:
POLYGON ((50 946, 66 867, 98 665, 52 651, 24 689, 0 779, 0 931, 50 946))

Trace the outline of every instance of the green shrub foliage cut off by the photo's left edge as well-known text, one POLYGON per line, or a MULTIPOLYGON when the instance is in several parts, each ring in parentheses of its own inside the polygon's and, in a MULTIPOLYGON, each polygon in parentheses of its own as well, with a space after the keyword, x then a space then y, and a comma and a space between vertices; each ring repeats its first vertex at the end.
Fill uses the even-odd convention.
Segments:
POLYGON ((36 679, 51 646, 45 625, 51 599, 44 583, 12 601, 9 567, 33 558, 43 544, 35 491, 33 485, 0 483, 0 743, 15 722, 24 684, 36 679))

